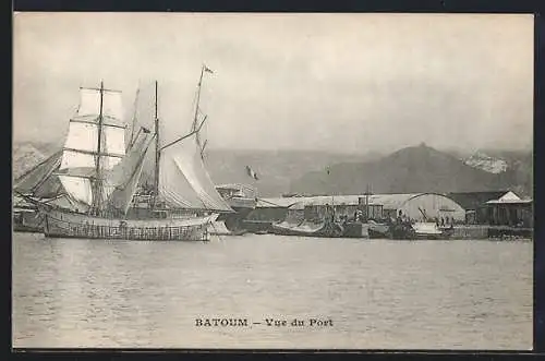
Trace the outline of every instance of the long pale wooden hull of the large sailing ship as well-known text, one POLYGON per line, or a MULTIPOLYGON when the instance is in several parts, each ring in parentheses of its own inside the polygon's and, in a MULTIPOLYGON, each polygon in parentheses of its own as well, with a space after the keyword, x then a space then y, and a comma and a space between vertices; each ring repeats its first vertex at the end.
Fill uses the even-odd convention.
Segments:
POLYGON ((217 218, 116 219, 60 209, 43 214, 46 237, 142 241, 208 241, 208 225, 217 218))

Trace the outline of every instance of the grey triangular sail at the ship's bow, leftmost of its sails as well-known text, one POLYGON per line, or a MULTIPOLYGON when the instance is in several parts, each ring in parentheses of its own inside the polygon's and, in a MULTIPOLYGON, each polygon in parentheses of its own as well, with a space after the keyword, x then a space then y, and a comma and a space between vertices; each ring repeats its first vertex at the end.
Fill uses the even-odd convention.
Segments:
POLYGON ((14 181, 13 190, 40 198, 53 197, 62 192, 62 185, 52 173, 61 164, 62 152, 57 152, 14 181))

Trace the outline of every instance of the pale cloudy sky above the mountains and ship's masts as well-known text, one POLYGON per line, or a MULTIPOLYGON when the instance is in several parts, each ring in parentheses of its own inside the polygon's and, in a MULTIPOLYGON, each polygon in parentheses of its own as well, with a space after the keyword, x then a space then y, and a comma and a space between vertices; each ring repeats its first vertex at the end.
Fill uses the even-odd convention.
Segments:
MULTIPOLYGON (((533 16, 17 13, 14 141, 62 143, 78 87, 159 84, 164 142, 201 108, 210 148, 530 148, 533 16)), ((146 98, 146 99, 143 99, 146 98)))

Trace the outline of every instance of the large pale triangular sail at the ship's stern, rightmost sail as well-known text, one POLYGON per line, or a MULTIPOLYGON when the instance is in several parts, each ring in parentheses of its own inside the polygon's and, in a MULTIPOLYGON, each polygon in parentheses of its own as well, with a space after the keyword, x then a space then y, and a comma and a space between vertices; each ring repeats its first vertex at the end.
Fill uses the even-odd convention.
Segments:
POLYGON ((210 180, 196 134, 161 152, 159 195, 174 208, 233 212, 210 180))

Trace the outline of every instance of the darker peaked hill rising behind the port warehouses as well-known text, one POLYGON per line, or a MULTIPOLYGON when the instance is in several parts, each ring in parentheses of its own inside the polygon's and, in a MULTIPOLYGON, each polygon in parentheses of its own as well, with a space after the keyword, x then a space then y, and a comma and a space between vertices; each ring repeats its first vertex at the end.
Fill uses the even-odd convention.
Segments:
MULTIPOLYGON (((499 173, 465 165, 448 153, 424 144, 400 149, 366 163, 340 163, 294 180, 290 191, 305 194, 358 194, 370 185, 374 193, 469 192, 513 189, 531 194, 532 167, 528 157, 499 173)), ((531 159, 531 154, 530 154, 531 159)))

